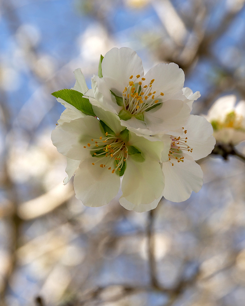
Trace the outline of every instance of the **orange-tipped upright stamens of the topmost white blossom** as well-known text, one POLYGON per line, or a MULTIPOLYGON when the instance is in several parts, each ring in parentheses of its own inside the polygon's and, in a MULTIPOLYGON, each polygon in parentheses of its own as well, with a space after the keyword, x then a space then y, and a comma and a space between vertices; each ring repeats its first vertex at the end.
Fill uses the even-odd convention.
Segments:
MULTIPOLYGON (((155 79, 151 80, 148 85, 141 87, 142 82, 137 80, 140 78, 140 75, 138 74, 134 81, 132 81, 133 77, 130 76, 129 84, 123 91, 123 105, 125 110, 137 115, 158 103, 158 97, 163 96, 164 93, 161 92, 155 97, 156 91, 152 92, 152 84, 155 79), (136 81, 138 83, 137 86, 135 86, 136 81)), ((142 77, 141 80, 145 81, 145 78, 142 77)))

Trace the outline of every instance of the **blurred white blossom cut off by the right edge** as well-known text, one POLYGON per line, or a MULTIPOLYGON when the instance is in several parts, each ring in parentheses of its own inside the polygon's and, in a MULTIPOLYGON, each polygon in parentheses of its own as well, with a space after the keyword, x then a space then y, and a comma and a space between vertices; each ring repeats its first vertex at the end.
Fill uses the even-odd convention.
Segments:
POLYGON ((217 142, 237 145, 245 140, 245 101, 236 104, 235 95, 219 98, 210 108, 207 120, 217 142))

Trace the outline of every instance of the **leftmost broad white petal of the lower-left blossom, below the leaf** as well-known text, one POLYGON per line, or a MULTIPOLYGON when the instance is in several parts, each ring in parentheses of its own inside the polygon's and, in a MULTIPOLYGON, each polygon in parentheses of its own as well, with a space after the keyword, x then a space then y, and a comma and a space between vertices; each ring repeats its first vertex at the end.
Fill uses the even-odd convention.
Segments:
POLYGON ((84 160, 91 156, 90 151, 84 146, 91 144, 92 138, 98 139, 104 135, 99 120, 86 116, 58 125, 52 131, 51 139, 59 153, 70 159, 84 160))

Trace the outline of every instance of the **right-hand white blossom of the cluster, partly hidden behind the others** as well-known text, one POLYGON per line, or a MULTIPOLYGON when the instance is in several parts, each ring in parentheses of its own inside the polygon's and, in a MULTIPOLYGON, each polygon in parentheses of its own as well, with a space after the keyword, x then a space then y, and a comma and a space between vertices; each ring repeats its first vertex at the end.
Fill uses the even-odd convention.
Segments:
POLYGON ((173 202, 187 200, 202 188, 203 173, 195 160, 210 154, 215 145, 211 124, 202 116, 190 115, 182 133, 171 135, 168 162, 162 163, 163 196, 173 202))

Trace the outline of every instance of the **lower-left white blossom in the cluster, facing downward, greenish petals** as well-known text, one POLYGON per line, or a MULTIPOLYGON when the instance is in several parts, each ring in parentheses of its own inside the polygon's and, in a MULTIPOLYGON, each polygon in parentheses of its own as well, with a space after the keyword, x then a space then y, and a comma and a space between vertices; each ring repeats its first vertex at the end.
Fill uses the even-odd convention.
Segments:
MULTIPOLYGON (((103 110, 101 110, 104 112, 103 110)), ((70 110, 69 110, 70 112, 70 110)), ((104 112, 104 121, 108 112, 104 112)), ((63 121, 52 132, 53 144, 67 157, 68 178, 74 175, 76 197, 85 206, 109 203, 118 193, 123 174, 122 206, 148 211, 157 206, 164 189, 160 162, 168 160, 171 144, 151 136, 137 136, 120 125, 115 114, 106 121, 111 132, 104 132, 92 116, 63 121)))

